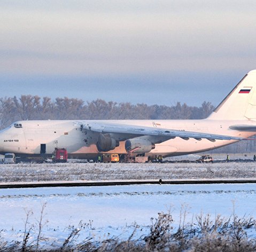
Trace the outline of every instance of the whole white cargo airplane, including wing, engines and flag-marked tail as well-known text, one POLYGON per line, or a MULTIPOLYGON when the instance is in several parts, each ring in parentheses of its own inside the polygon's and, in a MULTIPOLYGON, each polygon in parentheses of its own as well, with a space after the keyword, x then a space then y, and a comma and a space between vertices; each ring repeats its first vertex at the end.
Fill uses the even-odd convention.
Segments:
POLYGON ((252 70, 203 120, 18 121, 0 131, 0 152, 40 156, 64 147, 69 158, 129 151, 176 156, 210 151, 255 134, 256 70, 252 70))

